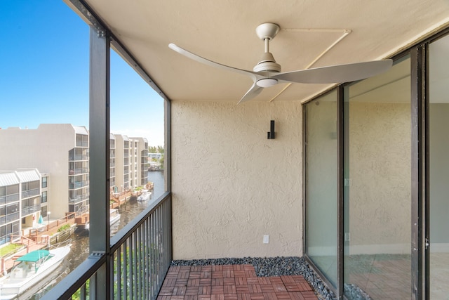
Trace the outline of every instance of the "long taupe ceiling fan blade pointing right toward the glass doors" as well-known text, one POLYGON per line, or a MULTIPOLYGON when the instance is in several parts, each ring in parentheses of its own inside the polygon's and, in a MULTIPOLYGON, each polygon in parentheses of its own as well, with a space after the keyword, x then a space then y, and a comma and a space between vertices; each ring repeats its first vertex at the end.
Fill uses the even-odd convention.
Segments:
POLYGON ((274 74, 271 77, 300 84, 334 84, 356 81, 386 72, 393 60, 373 60, 348 65, 331 65, 313 69, 274 74))

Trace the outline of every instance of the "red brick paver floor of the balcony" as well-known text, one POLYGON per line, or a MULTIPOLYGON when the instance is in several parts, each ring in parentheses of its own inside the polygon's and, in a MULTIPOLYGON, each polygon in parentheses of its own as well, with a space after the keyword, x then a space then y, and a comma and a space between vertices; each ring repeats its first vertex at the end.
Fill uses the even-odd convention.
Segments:
POLYGON ((251 265, 172 266, 158 300, 318 299, 300 275, 257 277, 251 265))

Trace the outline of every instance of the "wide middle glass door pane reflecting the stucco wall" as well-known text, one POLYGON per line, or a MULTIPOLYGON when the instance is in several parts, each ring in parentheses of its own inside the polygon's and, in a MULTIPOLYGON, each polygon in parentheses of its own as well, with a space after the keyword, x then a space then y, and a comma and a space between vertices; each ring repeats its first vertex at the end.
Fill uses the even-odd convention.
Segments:
POLYGON ((410 59, 349 86, 344 113, 344 296, 410 299, 410 59))

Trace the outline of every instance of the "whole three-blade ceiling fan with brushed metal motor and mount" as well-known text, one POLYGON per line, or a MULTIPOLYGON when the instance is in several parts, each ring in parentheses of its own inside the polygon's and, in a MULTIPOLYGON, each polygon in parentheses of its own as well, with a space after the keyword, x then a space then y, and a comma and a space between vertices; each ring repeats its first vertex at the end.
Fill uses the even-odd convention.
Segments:
POLYGON ((257 26, 255 31, 257 37, 264 41, 264 53, 262 54, 260 62, 253 68, 253 71, 241 70, 236 67, 215 63, 212 60, 197 56, 175 44, 169 44, 168 46, 177 53, 192 60, 196 60, 199 63, 244 74, 253 79, 253 86, 251 86, 246 94, 240 99, 239 103, 248 101, 257 96, 262 89, 279 83, 333 84, 356 81, 385 72, 389 70, 391 65, 393 65, 393 60, 387 59, 373 60, 364 63, 351 63, 347 65, 316 67, 292 72, 281 72, 281 65, 276 63, 272 53, 269 52, 269 41, 276 37, 279 30, 279 25, 274 23, 263 23, 257 26))

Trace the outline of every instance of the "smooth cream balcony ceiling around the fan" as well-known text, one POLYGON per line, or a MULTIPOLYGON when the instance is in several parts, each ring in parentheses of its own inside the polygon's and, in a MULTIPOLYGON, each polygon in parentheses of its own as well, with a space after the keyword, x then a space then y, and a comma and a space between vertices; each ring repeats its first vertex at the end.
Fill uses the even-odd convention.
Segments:
MULTIPOLYGON (((88 0, 171 100, 229 100, 250 88, 248 77, 189 60, 175 43, 225 65, 253 70, 263 52, 255 27, 275 22, 270 51, 283 71, 387 58, 449 21, 448 0, 88 0), (311 30, 307 30, 311 29, 311 30)), ((286 85, 264 89, 269 101, 286 85)), ((275 100, 307 100, 326 84, 291 84, 275 100)))

